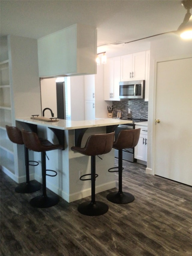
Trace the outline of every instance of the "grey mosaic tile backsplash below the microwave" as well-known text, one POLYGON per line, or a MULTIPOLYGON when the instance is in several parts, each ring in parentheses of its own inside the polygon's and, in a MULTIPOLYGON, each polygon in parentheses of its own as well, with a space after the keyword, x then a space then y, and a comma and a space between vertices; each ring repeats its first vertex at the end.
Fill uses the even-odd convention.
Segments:
POLYGON ((123 118, 148 119, 148 101, 144 99, 130 99, 127 101, 113 101, 113 117, 121 110, 123 118), (131 113, 128 114, 128 108, 131 113))

